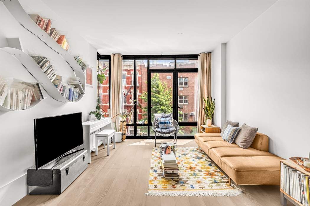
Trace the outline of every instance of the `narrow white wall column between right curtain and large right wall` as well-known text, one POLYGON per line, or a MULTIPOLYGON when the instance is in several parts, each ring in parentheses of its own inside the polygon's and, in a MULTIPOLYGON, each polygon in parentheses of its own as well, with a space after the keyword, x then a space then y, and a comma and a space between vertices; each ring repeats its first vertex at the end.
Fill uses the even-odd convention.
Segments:
POLYGON ((215 98, 213 124, 226 122, 226 43, 219 44, 211 56, 211 96, 215 98))

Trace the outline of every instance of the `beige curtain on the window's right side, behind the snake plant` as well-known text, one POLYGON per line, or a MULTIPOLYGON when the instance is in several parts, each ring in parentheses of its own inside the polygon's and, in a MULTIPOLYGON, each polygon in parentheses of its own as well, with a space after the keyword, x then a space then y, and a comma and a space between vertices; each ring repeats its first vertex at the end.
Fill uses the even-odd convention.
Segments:
POLYGON ((200 53, 198 55, 198 133, 200 133, 200 125, 204 121, 203 97, 207 96, 211 97, 211 53, 200 53))

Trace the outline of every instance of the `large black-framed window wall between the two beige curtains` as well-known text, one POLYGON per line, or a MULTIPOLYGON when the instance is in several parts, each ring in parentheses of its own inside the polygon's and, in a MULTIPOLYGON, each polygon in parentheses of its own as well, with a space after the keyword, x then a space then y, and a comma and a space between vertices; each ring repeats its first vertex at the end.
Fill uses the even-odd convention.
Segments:
POLYGON ((197 95, 193 90, 197 86, 197 68, 198 55, 123 55, 122 89, 126 96, 123 105, 132 106, 134 100, 142 105, 142 108, 134 105, 130 111, 127 137, 152 137, 149 82, 154 74, 159 74, 162 82, 170 84, 173 118, 180 125, 178 138, 192 138, 197 132, 197 105, 192 96, 197 95))

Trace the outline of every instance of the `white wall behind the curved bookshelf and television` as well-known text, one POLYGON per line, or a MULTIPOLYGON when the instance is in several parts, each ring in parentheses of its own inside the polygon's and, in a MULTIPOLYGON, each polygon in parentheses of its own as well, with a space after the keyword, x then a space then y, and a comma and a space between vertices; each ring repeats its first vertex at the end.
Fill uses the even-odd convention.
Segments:
MULTIPOLYGON (((81 55, 93 66, 93 82, 96 82, 96 49, 76 32, 66 30, 64 26, 66 23, 41 1, 23 0, 21 2, 22 4, 27 2, 26 9, 29 9, 29 12, 46 14, 46 17, 52 18, 52 26, 60 28, 68 36, 71 53, 81 55)), ((7 37, 20 37, 26 53, 49 57, 60 75, 73 74, 69 65, 41 40, 23 28, 2 2, 0 14, 0 47, 7 47, 7 37)), ((23 81, 34 81, 34 78, 14 57, 1 52, 0 62, 0 74, 23 81)), ((14 204, 27 194, 25 174, 27 169, 35 164, 33 119, 82 111, 83 121, 87 121, 88 112, 93 110, 96 104, 97 90, 96 86, 86 87, 86 94, 77 103, 61 103, 48 94, 46 96, 47 99, 26 111, 0 111, 0 205, 14 204)), ((51 128, 50 132, 57 135, 57 128, 51 128)))

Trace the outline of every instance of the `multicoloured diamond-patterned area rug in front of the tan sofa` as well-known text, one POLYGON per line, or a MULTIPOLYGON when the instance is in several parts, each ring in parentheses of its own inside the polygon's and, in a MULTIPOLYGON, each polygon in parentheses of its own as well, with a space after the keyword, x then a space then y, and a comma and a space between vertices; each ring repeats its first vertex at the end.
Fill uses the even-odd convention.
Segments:
POLYGON ((153 148, 148 193, 152 196, 235 196, 242 193, 228 185, 228 178, 197 147, 175 149, 179 180, 165 179, 159 148, 153 148))

